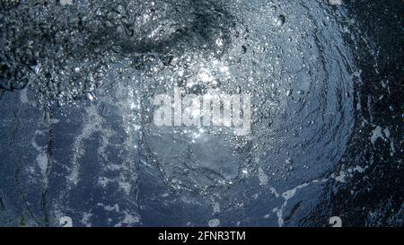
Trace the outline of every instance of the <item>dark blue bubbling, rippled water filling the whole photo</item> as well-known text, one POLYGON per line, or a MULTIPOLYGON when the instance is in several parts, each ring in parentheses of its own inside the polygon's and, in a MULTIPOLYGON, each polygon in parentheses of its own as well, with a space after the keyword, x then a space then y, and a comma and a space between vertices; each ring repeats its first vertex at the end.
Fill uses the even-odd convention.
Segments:
POLYGON ((0 223, 402 226, 402 1, 1 2, 0 223), (251 94, 249 136, 154 95, 251 94))

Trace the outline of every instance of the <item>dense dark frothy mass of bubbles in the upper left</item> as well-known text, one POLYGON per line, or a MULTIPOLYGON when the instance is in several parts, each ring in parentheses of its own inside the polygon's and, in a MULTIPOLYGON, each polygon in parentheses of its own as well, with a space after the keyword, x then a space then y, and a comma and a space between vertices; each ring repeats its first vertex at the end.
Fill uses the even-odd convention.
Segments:
POLYGON ((0 87, 30 86, 41 102, 64 105, 99 87, 123 58, 153 75, 184 49, 225 45, 227 16, 214 8, 211 1, 2 2, 0 87))

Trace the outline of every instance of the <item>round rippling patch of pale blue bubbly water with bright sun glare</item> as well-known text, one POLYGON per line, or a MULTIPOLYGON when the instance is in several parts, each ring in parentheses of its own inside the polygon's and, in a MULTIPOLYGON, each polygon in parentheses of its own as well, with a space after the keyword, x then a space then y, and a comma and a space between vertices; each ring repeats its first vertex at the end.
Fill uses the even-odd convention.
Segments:
POLYGON ((344 57, 346 47, 334 20, 324 11, 315 13, 318 19, 312 18, 314 13, 293 4, 261 5, 230 5, 229 12, 237 16, 235 27, 215 20, 212 26, 217 28, 207 28, 209 39, 184 39, 176 43, 188 43, 184 48, 150 56, 142 63, 150 77, 147 83, 156 88, 148 87, 148 97, 170 93, 173 86, 180 88, 181 96, 215 92, 252 96, 249 136, 232 136, 222 128, 203 128, 204 133, 199 128, 156 129, 144 122, 148 160, 159 166, 173 188, 206 192, 257 174, 261 184, 294 179, 295 172, 312 171, 315 162, 326 162, 330 154, 336 158, 342 149, 336 146, 329 152, 325 144, 344 145, 349 119, 341 115, 351 115, 352 101, 339 98, 352 89, 353 67, 344 57), (332 28, 317 33, 318 37, 315 30, 323 22, 332 28), (329 45, 333 39, 339 42, 329 45), (206 146, 210 144, 215 148, 206 146), (326 150, 307 153, 309 149, 326 150))

